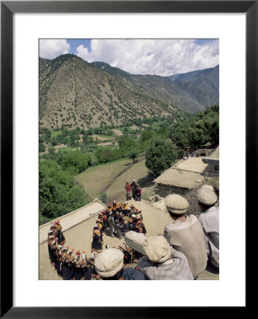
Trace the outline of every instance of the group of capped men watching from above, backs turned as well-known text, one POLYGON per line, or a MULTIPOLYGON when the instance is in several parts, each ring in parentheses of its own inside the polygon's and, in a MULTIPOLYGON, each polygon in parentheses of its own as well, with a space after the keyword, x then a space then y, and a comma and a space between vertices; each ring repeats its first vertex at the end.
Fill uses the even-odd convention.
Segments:
POLYGON ((219 269, 219 184, 203 185, 196 197, 201 215, 186 215, 189 202, 177 194, 165 198, 172 223, 164 235, 145 237, 145 256, 135 268, 125 268, 123 254, 105 250, 96 256, 94 267, 101 279, 112 280, 193 280, 207 263, 219 269))

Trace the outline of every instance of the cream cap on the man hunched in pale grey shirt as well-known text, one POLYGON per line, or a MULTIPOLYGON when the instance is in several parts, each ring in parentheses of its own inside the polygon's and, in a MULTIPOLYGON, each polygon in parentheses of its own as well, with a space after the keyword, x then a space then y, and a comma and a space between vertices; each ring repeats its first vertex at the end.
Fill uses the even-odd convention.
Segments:
POLYGON ((162 235, 146 237, 143 249, 152 262, 166 262, 172 255, 171 247, 162 235))

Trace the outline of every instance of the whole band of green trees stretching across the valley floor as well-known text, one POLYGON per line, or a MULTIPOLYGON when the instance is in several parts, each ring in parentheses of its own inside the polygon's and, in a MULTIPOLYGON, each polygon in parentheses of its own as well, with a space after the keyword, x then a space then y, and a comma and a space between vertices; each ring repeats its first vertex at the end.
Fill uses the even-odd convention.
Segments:
MULTIPOLYGON (((219 107, 207 108, 193 116, 185 115, 174 123, 172 119, 147 119, 148 128, 140 130, 136 139, 128 125, 123 126, 123 135, 116 136, 117 145, 94 144, 91 135, 112 135, 107 125, 100 128, 67 130, 62 128, 54 140, 79 140, 83 135, 84 147, 72 152, 55 153, 50 148, 40 160, 40 223, 56 218, 86 204, 86 193, 74 181, 74 175, 90 166, 106 164, 116 159, 129 157, 134 162, 140 154, 145 154, 145 164, 152 176, 159 176, 165 169, 182 157, 186 149, 196 149, 206 142, 218 145, 219 107), (159 121, 158 121, 159 120, 159 121)), ((138 122, 138 120, 135 120, 138 122)), ((142 120, 139 122, 142 123, 142 120)), ((41 129, 40 143, 51 141, 50 130, 41 129)))

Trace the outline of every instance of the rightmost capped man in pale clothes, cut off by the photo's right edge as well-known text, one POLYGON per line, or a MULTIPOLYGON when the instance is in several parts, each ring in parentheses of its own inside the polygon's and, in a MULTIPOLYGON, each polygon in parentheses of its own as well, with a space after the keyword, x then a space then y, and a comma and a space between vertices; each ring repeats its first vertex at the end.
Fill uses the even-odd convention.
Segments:
POLYGON ((215 207, 217 196, 211 189, 198 189, 196 193, 201 208, 199 221, 206 240, 208 260, 219 268, 219 207, 215 207))

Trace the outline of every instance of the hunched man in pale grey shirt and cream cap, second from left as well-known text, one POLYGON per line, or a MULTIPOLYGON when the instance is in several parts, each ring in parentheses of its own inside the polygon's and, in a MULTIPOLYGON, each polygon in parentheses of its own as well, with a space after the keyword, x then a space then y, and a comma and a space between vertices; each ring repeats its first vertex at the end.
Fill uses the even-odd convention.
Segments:
POLYGON ((138 260, 138 269, 150 280, 194 279, 186 256, 174 250, 162 235, 146 237, 143 249, 147 257, 138 260))

